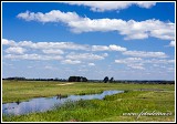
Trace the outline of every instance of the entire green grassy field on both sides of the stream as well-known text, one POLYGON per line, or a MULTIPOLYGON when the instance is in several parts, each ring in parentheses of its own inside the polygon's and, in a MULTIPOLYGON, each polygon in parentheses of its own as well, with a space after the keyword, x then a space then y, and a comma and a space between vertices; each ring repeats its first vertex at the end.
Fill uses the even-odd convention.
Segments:
POLYGON ((25 101, 32 97, 56 94, 90 94, 104 90, 124 90, 125 93, 106 96, 104 100, 69 102, 53 111, 18 116, 2 116, 3 122, 174 122, 174 84, 123 84, 3 81, 2 102, 25 101), (139 91, 142 89, 142 91, 139 91), (127 113, 153 112, 171 115, 124 115, 127 113))

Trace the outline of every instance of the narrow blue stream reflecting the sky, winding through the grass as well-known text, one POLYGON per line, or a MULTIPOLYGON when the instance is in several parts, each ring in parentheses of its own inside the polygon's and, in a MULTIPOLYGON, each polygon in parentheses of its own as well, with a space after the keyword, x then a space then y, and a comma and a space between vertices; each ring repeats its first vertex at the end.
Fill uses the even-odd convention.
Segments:
POLYGON ((2 113, 3 114, 27 114, 31 112, 44 112, 48 110, 52 110, 55 104, 62 105, 66 101, 79 101, 79 100, 103 100, 105 95, 113 95, 117 93, 123 93, 124 91, 104 91, 101 94, 90 94, 90 95, 70 95, 67 97, 62 97, 61 94, 58 94, 53 97, 39 97, 32 99, 28 102, 19 102, 15 103, 6 103, 2 104, 2 113))

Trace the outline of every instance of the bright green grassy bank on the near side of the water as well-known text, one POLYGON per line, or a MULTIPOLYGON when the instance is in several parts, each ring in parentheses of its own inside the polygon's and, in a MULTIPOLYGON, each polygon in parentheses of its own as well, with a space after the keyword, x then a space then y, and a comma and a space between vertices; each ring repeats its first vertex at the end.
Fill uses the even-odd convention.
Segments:
POLYGON ((104 100, 69 101, 52 111, 4 116, 4 122, 173 122, 174 91, 128 91, 107 95, 104 100), (124 116, 123 113, 171 112, 170 116, 124 116))

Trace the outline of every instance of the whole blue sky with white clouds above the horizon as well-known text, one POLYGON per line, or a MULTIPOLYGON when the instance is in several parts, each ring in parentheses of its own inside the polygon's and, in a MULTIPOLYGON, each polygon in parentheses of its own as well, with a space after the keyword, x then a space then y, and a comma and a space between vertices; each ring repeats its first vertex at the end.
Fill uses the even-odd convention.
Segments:
POLYGON ((175 2, 1 2, 2 78, 175 80, 175 2))

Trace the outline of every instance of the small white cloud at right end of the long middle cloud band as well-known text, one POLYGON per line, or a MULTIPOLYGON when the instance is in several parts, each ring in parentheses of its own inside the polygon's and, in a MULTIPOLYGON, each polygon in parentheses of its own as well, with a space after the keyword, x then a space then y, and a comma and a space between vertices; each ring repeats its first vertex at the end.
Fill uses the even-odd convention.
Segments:
POLYGON ((108 46, 106 45, 92 45, 92 51, 126 51, 126 48, 111 44, 108 46))

